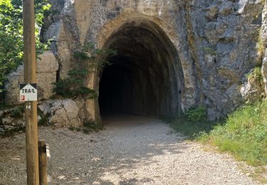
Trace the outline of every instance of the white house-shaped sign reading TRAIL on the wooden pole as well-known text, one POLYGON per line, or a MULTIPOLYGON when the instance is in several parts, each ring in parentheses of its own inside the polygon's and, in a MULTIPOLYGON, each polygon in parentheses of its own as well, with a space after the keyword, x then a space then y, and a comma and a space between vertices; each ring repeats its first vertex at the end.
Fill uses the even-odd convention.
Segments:
POLYGON ((21 102, 37 101, 37 85, 36 83, 20 84, 19 99, 21 102))

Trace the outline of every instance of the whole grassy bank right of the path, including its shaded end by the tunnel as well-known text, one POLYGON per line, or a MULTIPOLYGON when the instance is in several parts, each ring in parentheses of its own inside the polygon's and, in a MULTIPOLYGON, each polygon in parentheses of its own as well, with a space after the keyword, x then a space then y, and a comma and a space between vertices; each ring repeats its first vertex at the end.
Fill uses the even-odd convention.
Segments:
POLYGON ((221 122, 192 122, 184 115, 170 125, 190 139, 211 144, 247 164, 267 165, 266 101, 241 107, 221 122))

